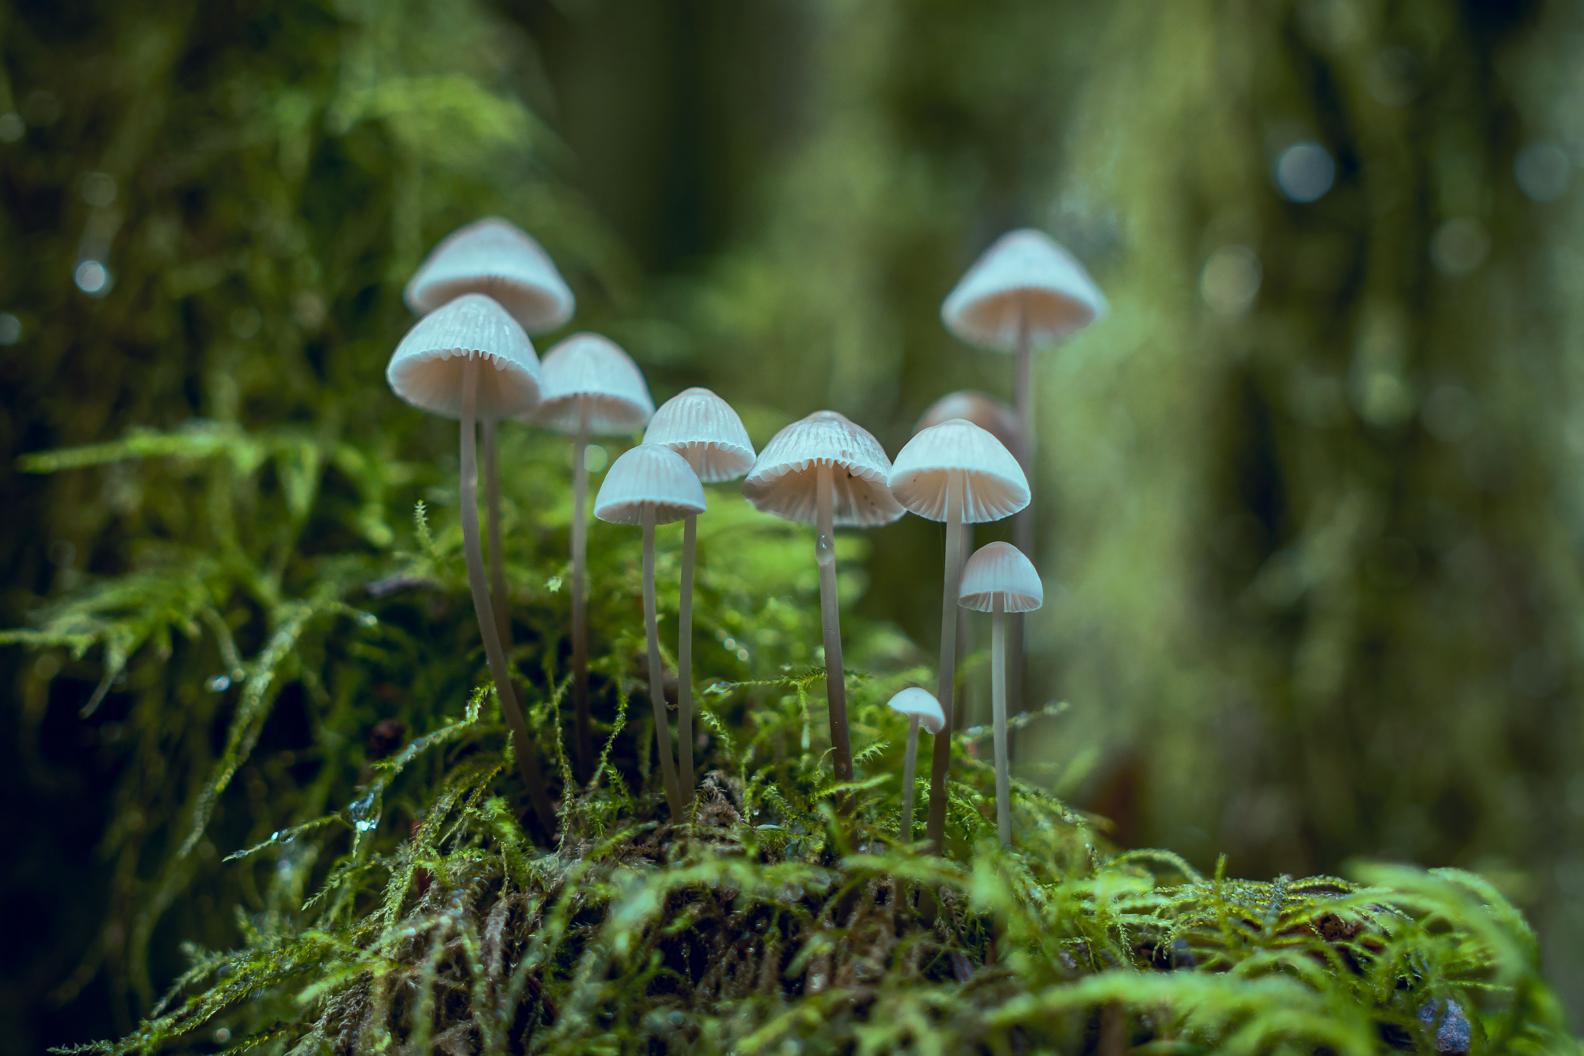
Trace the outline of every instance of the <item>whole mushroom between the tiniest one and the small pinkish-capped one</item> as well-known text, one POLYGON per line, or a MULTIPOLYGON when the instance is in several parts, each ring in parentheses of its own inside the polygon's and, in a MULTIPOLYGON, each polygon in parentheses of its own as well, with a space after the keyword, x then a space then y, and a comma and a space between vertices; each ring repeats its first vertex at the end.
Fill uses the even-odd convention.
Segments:
MULTIPOLYGON (((1028 480, 1001 442, 963 418, 930 426, 897 454, 890 472, 897 502, 930 521, 946 521, 946 583, 941 602, 941 681, 936 697, 952 728, 957 667, 957 589, 963 575, 963 524, 1000 521, 1028 505, 1028 480)), ((946 774, 950 736, 935 738, 930 768, 930 820, 936 850, 946 838, 946 774)))

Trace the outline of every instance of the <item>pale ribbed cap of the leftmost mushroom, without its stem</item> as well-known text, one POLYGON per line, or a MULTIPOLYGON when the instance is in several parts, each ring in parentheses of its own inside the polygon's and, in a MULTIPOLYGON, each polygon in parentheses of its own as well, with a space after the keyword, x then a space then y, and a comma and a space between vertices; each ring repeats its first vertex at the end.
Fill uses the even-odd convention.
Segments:
POLYGON ((391 353, 385 380, 420 410, 463 413, 463 366, 482 356, 478 416, 510 418, 534 410, 540 369, 534 345, 505 309, 482 293, 461 296, 425 315, 391 353), (493 367, 489 370, 483 367, 493 367))

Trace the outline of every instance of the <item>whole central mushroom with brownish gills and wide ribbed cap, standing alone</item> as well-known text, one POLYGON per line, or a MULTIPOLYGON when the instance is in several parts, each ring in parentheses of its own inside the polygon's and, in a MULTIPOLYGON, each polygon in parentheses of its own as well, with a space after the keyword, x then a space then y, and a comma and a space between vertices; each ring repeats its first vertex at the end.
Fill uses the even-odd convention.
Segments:
POLYGON ((835 529, 879 527, 903 515, 885 484, 889 473, 885 448, 866 429, 833 410, 816 410, 773 435, 743 481, 743 494, 756 510, 816 529, 825 701, 830 705, 830 746, 835 749, 838 782, 852 781, 852 743, 841 670, 835 529))

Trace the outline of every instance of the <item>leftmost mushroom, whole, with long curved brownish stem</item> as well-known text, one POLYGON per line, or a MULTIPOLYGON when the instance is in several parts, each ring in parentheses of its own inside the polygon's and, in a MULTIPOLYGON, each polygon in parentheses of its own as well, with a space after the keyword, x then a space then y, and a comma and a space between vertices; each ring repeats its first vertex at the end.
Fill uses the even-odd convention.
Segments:
POLYGON ((516 703, 512 673, 496 629, 489 591, 485 586, 483 549, 478 541, 478 454, 474 421, 505 418, 531 410, 539 399, 540 369, 534 345, 505 309, 482 293, 464 294, 418 320, 391 353, 385 380, 391 391, 420 410, 461 418, 463 551, 467 557, 467 589, 474 595, 478 633, 489 659, 501 712, 516 741, 516 765, 527 785, 540 823, 556 831, 556 811, 539 773, 539 754, 516 703), (485 370, 483 363, 493 369, 485 370))

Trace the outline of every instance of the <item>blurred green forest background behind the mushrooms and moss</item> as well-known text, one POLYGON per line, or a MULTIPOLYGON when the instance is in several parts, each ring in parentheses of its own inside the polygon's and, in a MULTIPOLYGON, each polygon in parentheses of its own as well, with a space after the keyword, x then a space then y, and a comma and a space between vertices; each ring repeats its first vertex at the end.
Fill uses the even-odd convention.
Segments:
MULTIPOLYGON (((1030 703, 1072 706, 1020 766, 1199 866, 1486 872, 1578 1016, 1581 60, 1584 6, 1540 0, 0 3, 0 622, 154 530, 127 473, 19 453, 196 418, 444 448, 382 367, 477 215, 657 399, 892 453, 949 389, 1011 399, 938 309, 1041 226, 1112 312, 1036 366, 1030 703)), ((941 535, 874 534, 855 603, 925 654, 941 535)), ((95 657, 0 667, 22 1053, 139 1010, 90 950, 95 657)))

